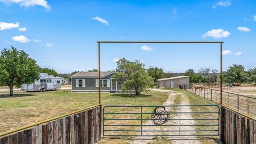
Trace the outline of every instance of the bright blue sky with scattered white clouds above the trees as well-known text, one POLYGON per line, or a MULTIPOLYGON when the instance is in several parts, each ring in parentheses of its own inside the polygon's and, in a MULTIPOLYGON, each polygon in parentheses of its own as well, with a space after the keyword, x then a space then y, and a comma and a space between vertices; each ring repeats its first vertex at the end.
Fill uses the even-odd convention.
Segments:
MULTIPOLYGON (((97 41, 223 41, 223 69, 256 67, 256 1, 0 0, 0 50, 25 50, 58 73, 98 69, 97 41)), ((102 44, 114 60, 183 72, 219 69, 218 44, 102 44)))

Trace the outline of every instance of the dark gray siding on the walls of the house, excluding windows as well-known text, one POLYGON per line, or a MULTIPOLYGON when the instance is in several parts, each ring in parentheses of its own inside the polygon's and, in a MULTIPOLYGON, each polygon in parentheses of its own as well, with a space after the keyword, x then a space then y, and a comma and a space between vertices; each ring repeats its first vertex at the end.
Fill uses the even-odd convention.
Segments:
MULTIPOLYGON (((101 79, 110 79, 114 74, 102 77, 101 79)), ((71 78, 72 81, 72 91, 99 91, 99 87, 95 87, 96 79, 99 78, 71 78), (85 87, 76 87, 76 79, 85 79, 85 87)), ((111 86, 111 85, 110 85, 111 86)), ((110 91, 111 87, 101 87, 102 91, 110 91)), ((117 87, 119 90, 119 87, 117 87)))

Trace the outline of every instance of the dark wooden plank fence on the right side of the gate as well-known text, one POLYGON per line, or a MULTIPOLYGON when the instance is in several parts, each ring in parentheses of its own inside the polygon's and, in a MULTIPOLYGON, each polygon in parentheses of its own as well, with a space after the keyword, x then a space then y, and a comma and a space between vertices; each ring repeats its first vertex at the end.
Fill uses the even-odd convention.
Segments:
POLYGON ((222 106, 221 141, 222 143, 256 143, 256 122, 222 106))

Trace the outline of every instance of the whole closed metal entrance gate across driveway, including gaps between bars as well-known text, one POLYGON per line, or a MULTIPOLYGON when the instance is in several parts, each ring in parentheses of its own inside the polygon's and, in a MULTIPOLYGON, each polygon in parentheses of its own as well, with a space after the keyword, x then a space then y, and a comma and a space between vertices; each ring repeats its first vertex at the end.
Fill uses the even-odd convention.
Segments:
POLYGON ((218 105, 105 106, 103 136, 220 135, 218 105))

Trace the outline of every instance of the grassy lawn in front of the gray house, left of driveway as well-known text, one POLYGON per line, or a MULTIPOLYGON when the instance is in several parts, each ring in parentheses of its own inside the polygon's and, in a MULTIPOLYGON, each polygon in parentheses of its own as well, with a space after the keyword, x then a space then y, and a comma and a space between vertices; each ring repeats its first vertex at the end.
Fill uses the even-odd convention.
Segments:
MULTIPOLYGON (((0 91, 0 132, 43 121, 98 104, 98 93, 0 91)), ((167 93, 150 91, 140 96, 103 93, 102 105, 161 105, 167 93), (156 101, 157 99, 157 101, 156 101)))

